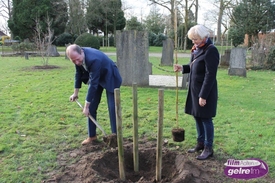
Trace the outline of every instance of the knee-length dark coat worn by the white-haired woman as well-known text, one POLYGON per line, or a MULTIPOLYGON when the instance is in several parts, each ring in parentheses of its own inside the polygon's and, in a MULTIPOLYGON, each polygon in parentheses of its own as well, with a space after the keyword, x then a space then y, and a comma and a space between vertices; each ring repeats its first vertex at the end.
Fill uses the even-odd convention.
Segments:
POLYGON ((208 39, 206 44, 192 53, 190 64, 183 65, 182 73, 189 73, 189 88, 185 104, 185 113, 201 118, 216 116, 218 87, 217 70, 219 52, 208 39), (199 98, 206 99, 206 105, 199 105, 199 98))

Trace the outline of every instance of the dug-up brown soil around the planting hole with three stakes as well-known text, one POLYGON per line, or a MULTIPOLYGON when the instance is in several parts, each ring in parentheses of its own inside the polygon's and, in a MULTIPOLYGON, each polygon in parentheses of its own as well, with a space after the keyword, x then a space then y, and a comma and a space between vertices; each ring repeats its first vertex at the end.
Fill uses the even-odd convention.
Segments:
MULTIPOLYGON (((172 151, 163 144, 160 183, 232 182, 223 173, 224 163, 212 157, 196 160, 198 154, 172 151)), ((139 142, 139 171, 134 171, 133 143, 124 140, 125 181, 120 179, 118 150, 104 142, 93 142, 58 156, 61 168, 49 174, 44 182, 56 183, 155 183, 156 144, 143 139, 139 142)))

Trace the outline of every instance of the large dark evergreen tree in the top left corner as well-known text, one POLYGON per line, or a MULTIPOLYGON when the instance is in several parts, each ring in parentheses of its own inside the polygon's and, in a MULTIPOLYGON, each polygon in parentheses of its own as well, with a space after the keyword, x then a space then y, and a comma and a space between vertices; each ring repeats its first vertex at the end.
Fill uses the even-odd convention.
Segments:
POLYGON ((42 31, 46 31, 47 17, 53 21, 55 35, 64 32, 67 22, 67 6, 64 0, 13 0, 12 17, 8 20, 8 26, 14 36, 32 40, 36 20, 40 20, 42 31))

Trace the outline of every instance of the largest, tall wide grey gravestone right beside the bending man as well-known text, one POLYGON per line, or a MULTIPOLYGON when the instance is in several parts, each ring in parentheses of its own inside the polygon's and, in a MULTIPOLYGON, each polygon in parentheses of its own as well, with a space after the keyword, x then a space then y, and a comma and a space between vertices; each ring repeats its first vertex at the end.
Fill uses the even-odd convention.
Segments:
POLYGON ((152 64, 149 62, 148 32, 116 31, 117 66, 122 85, 149 86, 152 64))

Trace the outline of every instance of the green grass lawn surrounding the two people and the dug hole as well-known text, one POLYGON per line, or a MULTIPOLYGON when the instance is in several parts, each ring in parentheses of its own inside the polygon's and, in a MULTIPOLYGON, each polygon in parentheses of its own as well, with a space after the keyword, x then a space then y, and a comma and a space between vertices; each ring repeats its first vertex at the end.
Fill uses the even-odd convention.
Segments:
MULTIPOLYGON (((159 58, 150 58, 158 64, 159 58)), ((0 85, 0 182, 41 182, 59 168, 57 155, 75 148, 87 136, 86 118, 76 103, 69 102, 74 86, 74 66, 64 57, 50 58, 57 69, 39 70, 41 58, 1 57, 0 85)), ((179 63, 188 62, 180 59, 179 63)), ((172 67, 165 67, 172 70, 172 67)), ((153 74, 173 74, 153 68, 153 74)), ((260 158, 275 178, 275 72, 247 71, 247 77, 218 71, 219 100, 214 118, 216 157, 260 158)), ((80 90, 81 103, 87 86, 80 90)), ((195 123, 184 114, 186 90, 179 90, 179 124, 176 122, 175 90, 164 91, 164 138, 169 147, 186 151, 195 144, 195 123), (171 129, 185 129, 185 141, 172 142, 171 129)), ((132 137, 132 87, 121 87, 124 137, 132 137)), ((105 94, 104 94, 105 95, 105 94)), ((158 120, 158 89, 138 88, 139 135, 155 140, 158 120)), ((110 133, 106 98, 98 119, 110 133)), ((102 136, 101 132, 98 131, 102 136)), ((100 137, 101 139, 101 137, 100 137)), ((225 162, 224 162, 225 163, 225 162)), ((221 167, 224 168, 224 167, 221 167)))

